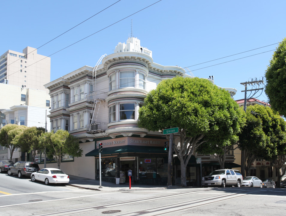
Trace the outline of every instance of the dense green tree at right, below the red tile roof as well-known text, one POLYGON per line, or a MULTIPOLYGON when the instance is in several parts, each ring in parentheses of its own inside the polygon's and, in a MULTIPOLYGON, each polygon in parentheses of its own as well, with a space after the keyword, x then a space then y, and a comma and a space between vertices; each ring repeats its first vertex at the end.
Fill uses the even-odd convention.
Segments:
MULTIPOLYGON (((280 170, 286 162, 286 122, 278 112, 274 112, 270 107, 257 104, 249 106, 247 111, 250 111, 257 122, 252 119, 252 126, 244 131, 245 137, 241 143, 244 143, 244 148, 249 151, 248 158, 255 157, 274 161, 277 170, 279 170, 277 173, 277 186, 279 187, 280 179, 283 176, 280 170), (250 135, 247 136, 247 133, 250 135)), ((249 115, 249 117, 251 116, 249 115)), ((253 162, 250 159, 247 161, 248 164, 253 162)))

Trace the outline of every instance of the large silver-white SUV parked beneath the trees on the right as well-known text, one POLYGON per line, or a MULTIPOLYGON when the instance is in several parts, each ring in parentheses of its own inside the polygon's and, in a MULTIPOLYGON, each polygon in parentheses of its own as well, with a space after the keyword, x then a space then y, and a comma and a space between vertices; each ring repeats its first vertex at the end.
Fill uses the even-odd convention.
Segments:
POLYGON ((202 178, 203 187, 219 186, 225 187, 226 185, 235 185, 240 187, 240 183, 243 182, 243 177, 238 170, 215 170, 208 176, 202 178))

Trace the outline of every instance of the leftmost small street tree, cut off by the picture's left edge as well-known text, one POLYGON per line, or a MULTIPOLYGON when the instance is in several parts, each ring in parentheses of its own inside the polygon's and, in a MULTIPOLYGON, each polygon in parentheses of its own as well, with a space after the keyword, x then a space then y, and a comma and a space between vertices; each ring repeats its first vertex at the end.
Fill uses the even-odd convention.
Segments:
POLYGON ((10 161, 12 161, 14 150, 20 147, 18 139, 25 128, 24 125, 7 124, 0 130, 0 144, 9 148, 10 161))

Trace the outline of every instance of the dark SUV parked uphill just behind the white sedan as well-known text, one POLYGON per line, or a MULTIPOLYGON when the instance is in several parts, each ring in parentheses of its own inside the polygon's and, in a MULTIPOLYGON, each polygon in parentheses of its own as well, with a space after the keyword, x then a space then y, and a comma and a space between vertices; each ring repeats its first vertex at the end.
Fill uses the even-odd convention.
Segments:
POLYGON ((19 178, 22 176, 31 176, 31 173, 39 171, 39 165, 31 161, 18 161, 13 166, 8 167, 7 173, 9 176, 17 174, 19 178))

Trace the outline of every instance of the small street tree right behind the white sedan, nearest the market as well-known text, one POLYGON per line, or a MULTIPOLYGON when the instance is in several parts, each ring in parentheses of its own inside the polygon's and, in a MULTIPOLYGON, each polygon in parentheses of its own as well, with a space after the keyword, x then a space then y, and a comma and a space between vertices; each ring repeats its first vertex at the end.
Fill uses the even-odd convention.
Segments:
POLYGON ((55 133, 46 132, 40 136, 40 145, 46 147, 48 158, 55 157, 60 169, 61 161, 65 154, 81 157, 82 149, 79 140, 68 131, 58 130, 55 133))

